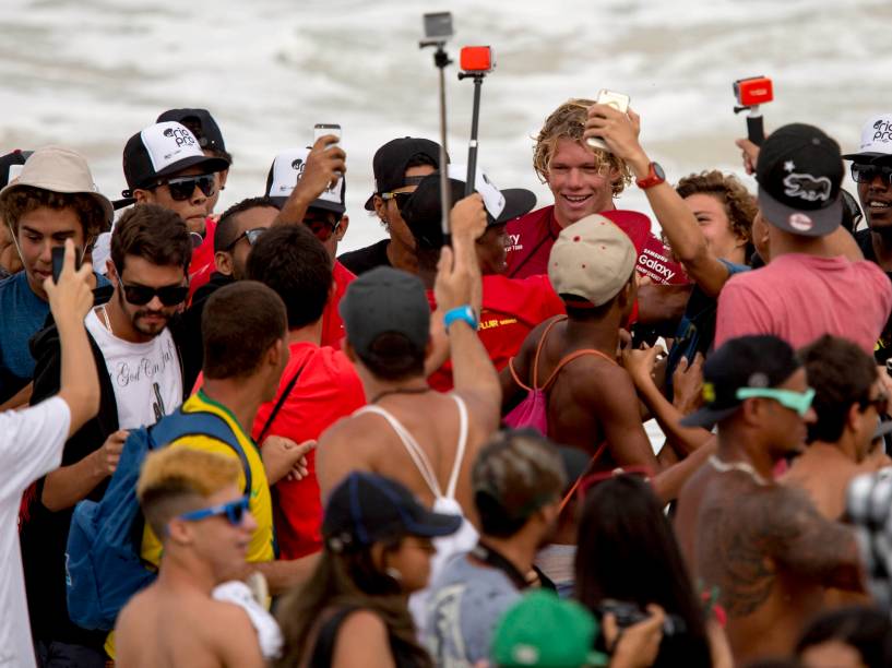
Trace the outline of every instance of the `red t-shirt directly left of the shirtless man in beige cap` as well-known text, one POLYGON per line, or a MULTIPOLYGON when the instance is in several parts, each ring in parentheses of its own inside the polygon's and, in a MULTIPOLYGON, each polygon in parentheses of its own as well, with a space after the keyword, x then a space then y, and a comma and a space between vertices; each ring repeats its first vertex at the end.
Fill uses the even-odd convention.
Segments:
MULTIPOLYGON (((484 276, 480 329, 477 334, 489 359, 501 371, 520 350, 523 339, 544 320, 564 312, 548 276, 508 278, 484 276)), ((437 308, 432 290, 427 293, 431 310, 437 308)), ((435 371, 428 382, 440 392, 452 390, 452 361, 435 371)))

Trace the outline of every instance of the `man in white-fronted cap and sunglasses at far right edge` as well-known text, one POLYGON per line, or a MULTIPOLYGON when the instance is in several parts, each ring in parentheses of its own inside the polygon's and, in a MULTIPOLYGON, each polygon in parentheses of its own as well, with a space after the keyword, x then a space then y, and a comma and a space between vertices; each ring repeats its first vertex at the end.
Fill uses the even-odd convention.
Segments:
MULTIPOLYGON (((867 217, 867 228, 856 231, 855 240, 865 260, 876 262, 892 281, 892 114, 870 118, 858 152, 843 158, 852 160, 852 179, 867 217)), ((892 357, 892 321, 883 327, 873 356, 878 362, 892 357)))

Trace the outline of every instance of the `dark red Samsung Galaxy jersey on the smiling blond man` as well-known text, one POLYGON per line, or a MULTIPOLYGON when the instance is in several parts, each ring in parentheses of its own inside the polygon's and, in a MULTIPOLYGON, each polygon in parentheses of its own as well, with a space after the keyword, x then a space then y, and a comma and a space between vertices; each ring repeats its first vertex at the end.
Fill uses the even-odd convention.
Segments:
MULTIPOLYGON (((689 283, 685 270, 668 258, 666 247, 651 232, 651 219, 635 211, 614 208, 600 212, 629 235, 638 251, 638 273, 654 283, 689 283)), ((526 278, 548 273, 548 255, 560 234, 555 206, 546 206, 508 224, 508 271, 511 278, 526 278)))

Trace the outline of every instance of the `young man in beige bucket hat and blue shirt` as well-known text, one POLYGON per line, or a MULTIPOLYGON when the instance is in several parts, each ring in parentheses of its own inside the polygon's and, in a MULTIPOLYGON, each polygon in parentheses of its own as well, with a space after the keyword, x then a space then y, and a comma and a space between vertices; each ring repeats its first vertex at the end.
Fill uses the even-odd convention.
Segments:
MULTIPOLYGON (((96 191, 83 156, 56 146, 28 158, 19 178, 0 192, 0 211, 24 265, 0 283, 0 404, 14 407, 27 403, 35 366, 28 339, 49 314, 44 281, 52 274, 52 249, 71 239, 85 252, 107 228, 112 212, 96 191)), ((99 283, 105 281, 92 278, 93 288, 99 283)))

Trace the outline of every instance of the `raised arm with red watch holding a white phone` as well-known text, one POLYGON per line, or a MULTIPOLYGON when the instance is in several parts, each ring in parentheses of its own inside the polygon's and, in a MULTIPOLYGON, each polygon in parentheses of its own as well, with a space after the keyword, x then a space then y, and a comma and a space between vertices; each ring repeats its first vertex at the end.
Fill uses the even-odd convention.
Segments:
MULTIPOLYGON (((617 157, 622 158, 632 174, 647 176, 651 158, 638 142, 640 118, 629 109, 622 114, 607 105, 588 108, 584 136, 599 136, 617 157)), ((706 244, 693 213, 668 182, 647 188, 644 193, 656 219, 673 249, 673 254, 685 265, 685 271, 707 295, 718 295, 728 279, 728 269, 718 261, 706 244)))

